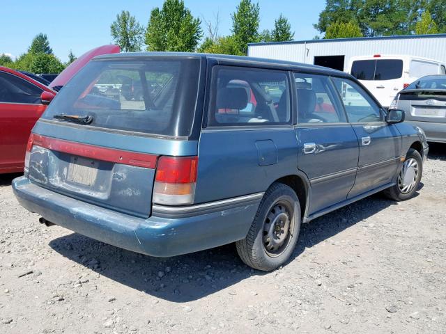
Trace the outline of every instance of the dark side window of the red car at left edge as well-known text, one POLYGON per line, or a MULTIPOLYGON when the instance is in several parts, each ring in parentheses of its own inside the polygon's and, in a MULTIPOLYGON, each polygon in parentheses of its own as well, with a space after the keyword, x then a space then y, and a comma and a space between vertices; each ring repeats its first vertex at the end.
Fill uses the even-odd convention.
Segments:
POLYGON ((43 89, 13 74, 0 72, 0 102, 40 104, 43 89))

